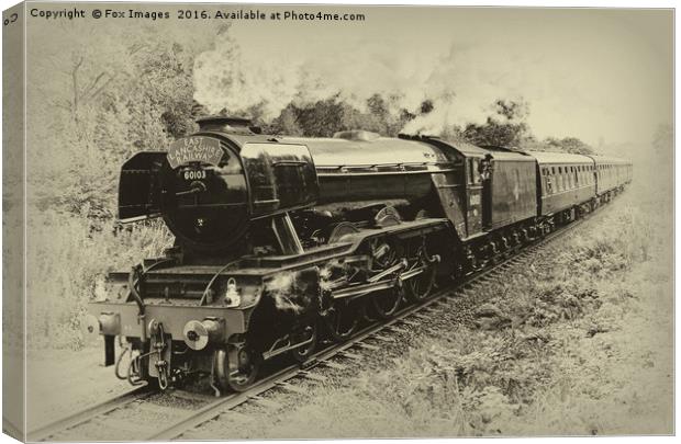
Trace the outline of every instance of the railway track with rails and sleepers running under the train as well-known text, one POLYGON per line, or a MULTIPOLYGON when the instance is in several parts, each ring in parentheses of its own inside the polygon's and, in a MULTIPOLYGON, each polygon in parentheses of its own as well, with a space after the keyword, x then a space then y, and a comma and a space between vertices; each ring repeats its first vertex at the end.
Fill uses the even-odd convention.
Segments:
MULTIPOLYGON (((549 242, 572 232, 582 224, 601 217, 610 209, 610 205, 580 220, 554 231, 546 237, 534 241, 523 248, 507 251, 503 257, 495 258, 493 264, 475 272, 453 286, 443 288, 431 296, 426 301, 403 308, 392 319, 378 325, 371 325, 358 331, 351 339, 340 344, 331 344, 314 353, 303 365, 294 364, 286 366, 264 377, 245 392, 230 394, 215 398, 206 395, 186 392, 182 390, 169 390, 155 392, 144 386, 124 392, 115 398, 88 407, 82 411, 72 413, 40 429, 27 433, 29 441, 66 441, 76 432, 78 441, 88 440, 88 430, 102 432, 102 428, 112 429, 114 435, 100 439, 111 441, 170 441, 181 437, 183 433, 199 425, 214 420, 220 415, 247 402, 255 402, 266 408, 279 407, 275 401, 263 397, 271 390, 301 392, 302 389, 294 384, 297 379, 324 382, 325 377, 313 372, 319 367, 345 368, 346 364, 336 362, 338 357, 361 360, 362 350, 378 350, 379 346, 371 342, 394 341, 391 332, 405 332, 406 328, 420 325, 423 319, 434 316, 438 310, 446 310, 447 306, 457 298, 470 297, 471 291, 478 285, 484 285, 491 280, 499 278, 507 270, 515 265, 526 264, 533 255, 549 242), (421 320, 418 320, 421 319, 421 320), (169 409, 167 405, 176 403, 167 412, 167 421, 132 421, 138 415, 136 409, 152 414, 154 409, 169 409), (181 407, 178 407, 179 403, 181 407), (124 436, 130 433, 131 437, 124 436), (120 437, 119 437, 120 436, 120 437)), ((144 418, 144 415, 142 417, 144 418)), ((97 435, 97 433, 94 433, 97 435)), ((70 440, 69 440, 70 441, 70 440)))

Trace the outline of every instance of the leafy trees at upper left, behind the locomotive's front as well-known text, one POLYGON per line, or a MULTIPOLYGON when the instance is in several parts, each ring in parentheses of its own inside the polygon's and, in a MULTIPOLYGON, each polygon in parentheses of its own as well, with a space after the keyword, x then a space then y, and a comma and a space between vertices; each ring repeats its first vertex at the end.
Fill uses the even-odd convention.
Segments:
POLYGON ((138 26, 91 31, 87 42, 75 26, 31 46, 29 143, 44 149, 30 150, 29 164, 41 171, 30 175, 38 208, 97 228, 115 216, 125 158, 194 130, 193 59, 206 42, 138 26))

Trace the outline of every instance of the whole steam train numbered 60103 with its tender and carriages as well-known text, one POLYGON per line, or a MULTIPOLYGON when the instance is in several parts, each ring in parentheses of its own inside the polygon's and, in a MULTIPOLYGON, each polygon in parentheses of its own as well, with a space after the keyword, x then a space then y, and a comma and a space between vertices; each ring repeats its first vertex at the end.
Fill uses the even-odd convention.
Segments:
POLYGON ((121 221, 161 217, 176 237, 161 258, 110 273, 88 306, 86 331, 132 384, 198 375, 216 392, 244 390, 263 362, 304 362, 322 335, 343 341, 362 319, 390 318, 632 180, 613 158, 198 122, 121 170, 121 221))

